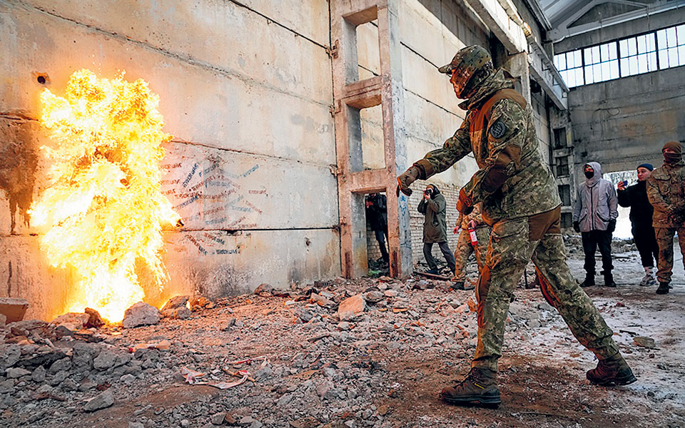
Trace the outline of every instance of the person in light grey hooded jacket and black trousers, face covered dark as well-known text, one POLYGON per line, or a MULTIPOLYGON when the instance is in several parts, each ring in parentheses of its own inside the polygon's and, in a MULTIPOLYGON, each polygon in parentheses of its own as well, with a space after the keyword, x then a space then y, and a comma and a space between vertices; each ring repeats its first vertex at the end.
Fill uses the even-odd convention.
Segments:
POLYGON ((614 185, 602 178, 602 167, 597 162, 583 167, 585 183, 579 185, 573 210, 573 228, 580 232, 585 253, 585 280, 582 287, 594 285, 594 253, 599 246, 602 254, 604 285, 616 287, 612 270, 612 233, 616 228, 618 198, 614 185))

